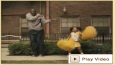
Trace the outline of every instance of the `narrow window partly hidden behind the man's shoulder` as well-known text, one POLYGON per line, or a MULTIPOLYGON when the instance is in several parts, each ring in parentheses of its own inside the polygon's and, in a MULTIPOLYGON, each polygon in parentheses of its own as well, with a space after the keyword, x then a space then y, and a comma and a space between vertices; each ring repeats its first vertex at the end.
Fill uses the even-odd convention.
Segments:
POLYGON ((28 35, 28 26, 27 26, 27 19, 21 18, 21 36, 27 36, 28 35))

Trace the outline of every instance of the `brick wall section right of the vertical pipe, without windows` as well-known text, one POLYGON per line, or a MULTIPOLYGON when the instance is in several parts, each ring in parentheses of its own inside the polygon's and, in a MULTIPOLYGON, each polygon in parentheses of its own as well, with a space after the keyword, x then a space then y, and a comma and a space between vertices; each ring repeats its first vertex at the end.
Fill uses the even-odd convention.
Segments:
POLYGON ((111 1, 51 1, 50 2, 50 18, 57 18, 58 21, 50 23, 50 32, 57 33, 60 31, 60 16, 63 15, 63 7, 67 9, 67 15, 79 15, 80 26, 84 29, 91 25, 91 15, 111 15, 111 1))

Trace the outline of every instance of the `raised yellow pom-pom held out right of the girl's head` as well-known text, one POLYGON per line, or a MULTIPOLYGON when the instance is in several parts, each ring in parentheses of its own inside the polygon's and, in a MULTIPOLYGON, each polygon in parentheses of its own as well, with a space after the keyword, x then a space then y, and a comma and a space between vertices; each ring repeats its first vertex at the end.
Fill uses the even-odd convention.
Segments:
POLYGON ((90 40, 94 37, 96 37, 97 31, 93 26, 88 26, 85 28, 85 30, 82 32, 82 40, 90 40))

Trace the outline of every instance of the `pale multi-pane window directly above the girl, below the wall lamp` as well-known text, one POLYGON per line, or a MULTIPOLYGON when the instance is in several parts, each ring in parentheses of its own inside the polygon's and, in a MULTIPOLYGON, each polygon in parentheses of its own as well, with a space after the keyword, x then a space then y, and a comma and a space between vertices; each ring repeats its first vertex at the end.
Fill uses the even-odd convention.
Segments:
POLYGON ((79 17, 61 18, 61 33, 69 33, 71 27, 80 27, 79 17))

